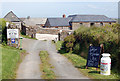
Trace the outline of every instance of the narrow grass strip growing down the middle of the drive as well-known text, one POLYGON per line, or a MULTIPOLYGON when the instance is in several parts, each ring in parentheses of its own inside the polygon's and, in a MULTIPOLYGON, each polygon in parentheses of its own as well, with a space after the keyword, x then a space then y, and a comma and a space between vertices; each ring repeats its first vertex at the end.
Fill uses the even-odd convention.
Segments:
POLYGON ((42 61, 41 71, 43 79, 55 79, 55 73, 52 71, 53 66, 49 64, 49 54, 47 51, 40 51, 40 59, 42 61))

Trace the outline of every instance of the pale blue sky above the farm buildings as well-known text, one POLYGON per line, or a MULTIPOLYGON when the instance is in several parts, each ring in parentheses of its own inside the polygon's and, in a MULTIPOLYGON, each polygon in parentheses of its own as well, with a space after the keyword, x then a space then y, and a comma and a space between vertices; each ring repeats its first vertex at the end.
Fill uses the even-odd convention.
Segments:
POLYGON ((118 17, 118 0, 4 0, 0 4, 0 17, 13 11, 18 17, 62 17, 63 14, 92 14, 118 17), (73 2, 74 1, 74 2, 73 2))

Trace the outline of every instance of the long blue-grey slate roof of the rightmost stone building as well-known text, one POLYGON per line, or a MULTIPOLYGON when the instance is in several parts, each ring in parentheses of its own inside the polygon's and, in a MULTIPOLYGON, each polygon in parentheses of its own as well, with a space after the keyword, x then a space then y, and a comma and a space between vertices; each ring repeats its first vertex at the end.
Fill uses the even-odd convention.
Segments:
POLYGON ((72 17, 70 22, 116 22, 104 15, 69 15, 72 17))

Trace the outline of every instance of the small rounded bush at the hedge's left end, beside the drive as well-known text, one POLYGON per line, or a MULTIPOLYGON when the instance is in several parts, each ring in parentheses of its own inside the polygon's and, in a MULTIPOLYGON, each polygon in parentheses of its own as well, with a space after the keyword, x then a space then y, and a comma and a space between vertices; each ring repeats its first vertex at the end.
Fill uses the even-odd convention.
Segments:
POLYGON ((66 47, 66 51, 67 51, 67 52, 71 52, 71 51, 72 51, 73 46, 74 46, 74 42, 75 42, 75 38, 74 38, 74 35, 73 35, 73 34, 67 36, 67 37, 64 39, 64 44, 65 44, 65 47, 66 47))

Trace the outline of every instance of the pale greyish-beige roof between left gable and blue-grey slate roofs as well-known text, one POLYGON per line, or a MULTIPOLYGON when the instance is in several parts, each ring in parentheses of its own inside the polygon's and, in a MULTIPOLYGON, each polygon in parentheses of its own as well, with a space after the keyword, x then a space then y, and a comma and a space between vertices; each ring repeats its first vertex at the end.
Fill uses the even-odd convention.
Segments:
POLYGON ((36 24, 45 24, 47 18, 30 18, 30 19, 25 19, 23 22, 27 26, 36 26, 36 24))

